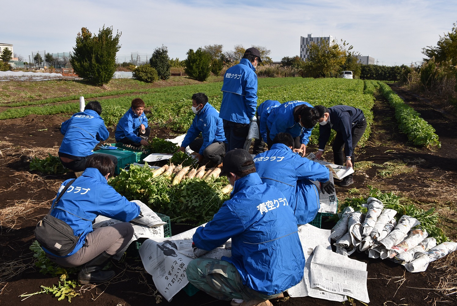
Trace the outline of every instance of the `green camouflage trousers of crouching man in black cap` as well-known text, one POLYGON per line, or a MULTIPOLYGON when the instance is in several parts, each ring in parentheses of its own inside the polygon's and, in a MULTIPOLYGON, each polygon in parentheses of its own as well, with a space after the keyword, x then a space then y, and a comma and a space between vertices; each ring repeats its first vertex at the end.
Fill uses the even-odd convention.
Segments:
POLYGON ((186 268, 187 279, 198 289, 218 300, 269 300, 279 295, 265 295, 243 284, 233 264, 213 258, 197 258, 186 268))

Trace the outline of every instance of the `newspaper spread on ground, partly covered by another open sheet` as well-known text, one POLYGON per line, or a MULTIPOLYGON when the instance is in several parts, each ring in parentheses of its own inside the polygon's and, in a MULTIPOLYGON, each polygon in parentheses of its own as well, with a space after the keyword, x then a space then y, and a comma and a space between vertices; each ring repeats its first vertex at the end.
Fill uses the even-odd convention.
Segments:
POLYGON ((313 258, 313 250, 316 246, 321 245, 331 251, 330 230, 322 230, 310 224, 305 224, 298 227, 298 236, 300 237, 300 241, 302 243, 306 264, 302 281, 289 289, 289 295, 292 297, 309 295, 311 297, 317 297, 319 299, 329 301, 346 301, 347 298, 345 295, 339 295, 310 287, 310 267, 311 260, 313 258))

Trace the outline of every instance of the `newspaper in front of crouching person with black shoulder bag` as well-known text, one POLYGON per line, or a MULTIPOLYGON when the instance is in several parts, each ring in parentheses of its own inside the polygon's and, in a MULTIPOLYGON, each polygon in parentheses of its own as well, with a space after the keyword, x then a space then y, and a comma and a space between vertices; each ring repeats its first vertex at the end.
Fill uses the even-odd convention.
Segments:
MULTIPOLYGON (((143 217, 135 218, 134 221, 132 220, 133 225, 133 237, 128 242, 127 246, 125 246, 121 251, 119 251, 113 258, 114 259, 121 259, 122 255, 124 254, 125 250, 127 250, 128 246, 139 238, 163 238, 164 237, 164 225, 165 222, 159 218, 159 216, 152 211, 146 204, 141 201, 134 200, 131 202, 135 202, 139 205, 141 209, 141 214, 143 217)), ((97 227, 105 227, 112 224, 122 223, 122 221, 111 219, 104 216, 97 216, 92 225, 93 228, 97 227)))

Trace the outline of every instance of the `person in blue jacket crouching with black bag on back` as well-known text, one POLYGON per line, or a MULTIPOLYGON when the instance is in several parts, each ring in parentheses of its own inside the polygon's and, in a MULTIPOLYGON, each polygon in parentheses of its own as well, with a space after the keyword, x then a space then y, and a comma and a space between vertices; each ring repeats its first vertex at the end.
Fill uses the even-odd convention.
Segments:
MULTIPOLYGON (((51 211, 53 217, 73 229, 79 240, 74 250, 63 257, 43 250, 52 262, 60 266, 83 265, 78 274, 80 284, 103 283, 114 277, 114 271, 102 269, 132 239, 133 227, 128 222, 140 215, 137 203, 129 202, 108 185, 108 177, 113 173, 114 164, 109 157, 91 155, 84 173, 74 180, 51 211), (93 229, 92 222, 98 215, 123 222, 93 229)), ((69 181, 62 183, 56 197, 69 181)))

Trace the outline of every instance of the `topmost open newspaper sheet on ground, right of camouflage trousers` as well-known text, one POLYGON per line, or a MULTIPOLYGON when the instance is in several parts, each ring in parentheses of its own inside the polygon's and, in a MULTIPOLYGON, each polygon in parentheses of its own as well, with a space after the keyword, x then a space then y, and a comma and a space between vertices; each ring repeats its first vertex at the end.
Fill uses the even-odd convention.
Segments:
POLYGON ((349 295, 368 303, 367 264, 316 246, 311 260, 311 287, 349 295))

